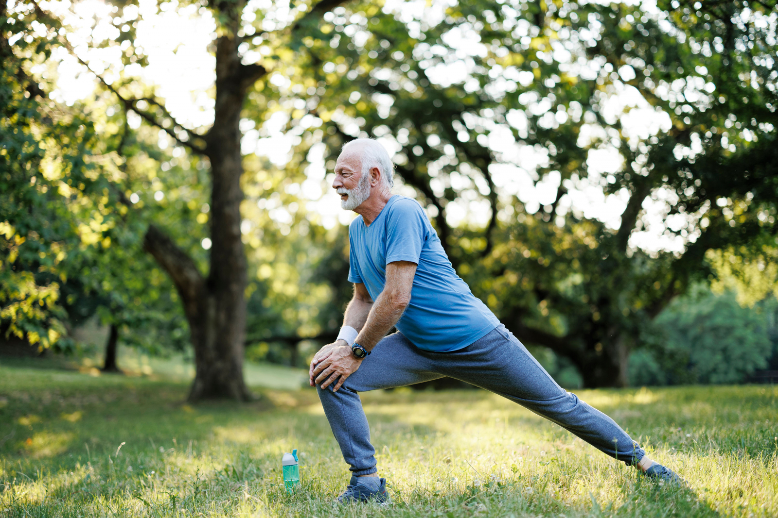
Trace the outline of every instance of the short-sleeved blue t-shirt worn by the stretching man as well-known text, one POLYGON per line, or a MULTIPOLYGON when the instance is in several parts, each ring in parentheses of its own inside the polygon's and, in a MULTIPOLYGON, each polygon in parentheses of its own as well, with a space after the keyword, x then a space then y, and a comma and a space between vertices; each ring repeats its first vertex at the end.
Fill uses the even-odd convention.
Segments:
POLYGON ((499 325, 457 276, 416 200, 392 196, 369 227, 356 217, 349 225, 349 243, 349 282, 364 283, 373 301, 384 290, 387 263, 418 265, 410 304, 396 327, 419 349, 462 349, 499 325))

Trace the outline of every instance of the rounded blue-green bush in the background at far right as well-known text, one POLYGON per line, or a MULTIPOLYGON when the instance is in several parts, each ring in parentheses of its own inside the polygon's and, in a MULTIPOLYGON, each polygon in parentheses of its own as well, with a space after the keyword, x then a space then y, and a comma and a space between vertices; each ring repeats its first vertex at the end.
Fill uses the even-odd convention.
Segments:
POLYGON ((742 308, 735 294, 699 289, 654 321, 654 346, 633 357, 633 384, 741 383, 773 356, 774 300, 742 308))

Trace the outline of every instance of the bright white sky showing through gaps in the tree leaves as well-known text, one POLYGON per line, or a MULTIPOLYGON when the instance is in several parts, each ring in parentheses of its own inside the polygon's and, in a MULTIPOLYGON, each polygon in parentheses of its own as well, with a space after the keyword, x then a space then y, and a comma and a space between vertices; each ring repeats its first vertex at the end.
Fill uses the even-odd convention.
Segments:
MULTIPOLYGON (((454 0, 434 0, 428 6, 426 0, 387 0, 384 12, 394 12, 395 16, 408 24, 410 32, 418 31, 419 23, 435 25, 443 19, 443 11, 454 0)), ((95 73, 103 75, 107 80, 114 81, 118 75, 124 74, 142 79, 146 85, 156 85, 156 95, 166 99, 166 106, 170 112, 186 127, 207 126, 213 120, 213 99, 209 96, 215 80, 215 58, 209 53, 208 47, 215 38, 216 23, 207 9, 195 5, 187 5, 177 8, 176 0, 163 3, 162 9, 158 9, 156 0, 140 0, 139 21, 137 26, 136 44, 144 50, 149 57, 149 66, 142 68, 140 65, 131 64, 123 67, 119 59, 121 49, 117 46, 106 49, 96 49, 93 46, 104 40, 115 39, 119 30, 107 23, 111 12, 110 5, 100 0, 85 0, 72 4, 68 0, 63 2, 40 2, 40 5, 65 19, 65 23, 72 27, 68 32, 68 41, 75 48, 75 52, 89 63, 89 68, 95 73), (95 23, 95 20, 96 23, 95 23), (91 43, 89 40, 91 39, 91 43)), ((655 16, 661 16, 654 8, 654 3, 644 4, 644 8, 655 12, 655 16)), ((125 8, 125 13, 130 12, 128 19, 134 19, 135 13, 131 7, 125 8)), ((247 22, 253 20, 254 11, 261 9, 270 12, 263 22, 265 29, 272 30, 277 26, 289 23, 299 13, 289 10, 289 4, 279 0, 275 4, 272 0, 251 0, 244 19, 247 22)), ((114 23, 121 27, 124 20, 114 19, 114 23)), ((524 30, 522 24, 517 24, 516 31, 524 30)), ((485 47, 478 40, 477 34, 463 28, 450 31, 444 38, 445 43, 454 49, 454 54, 447 56, 445 64, 438 64, 427 70, 429 77, 440 85, 464 83, 468 88, 469 72, 474 66, 471 57, 483 55, 485 47)), ((440 47, 440 46, 439 46, 440 47)), ((445 49, 440 47, 423 47, 426 50, 437 51, 445 49)), ((423 50, 423 49, 422 49, 423 50)), ((570 51, 561 43, 555 46, 548 59, 553 57, 556 61, 566 63, 569 71, 577 73, 584 78, 594 78, 600 73, 600 64, 596 62, 582 63, 573 58, 570 51), (575 61, 573 61, 575 60, 575 61)), ((78 99, 84 99, 92 95, 96 88, 96 78, 93 73, 87 71, 64 49, 54 54, 58 61, 57 88, 51 92, 51 97, 68 105, 78 99)), ((606 67, 609 65, 606 65, 606 67)), ((43 71, 43 68, 40 69, 43 71)), ((498 70, 495 85, 491 87, 496 95, 499 89, 510 88, 520 83, 528 86, 534 78, 527 72, 515 70, 498 70), (501 75, 499 75, 501 74, 501 75)), ((629 80, 634 77, 635 71, 626 66, 616 71, 621 78, 629 80)), ((391 71, 387 71, 387 74, 391 71)), ((272 81, 288 81, 282 76, 272 77, 272 81)), ((696 85, 689 82, 690 85, 696 85)), ((514 86, 515 88, 515 86, 514 86)), ((685 95, 689 98, 687 86, 685 95)), ((706 95, 707 85, 696 85, 692 94, 706 95)), ((138 92, 141 93, 141 92, 138 92)), ((492 91, 490 91, 492 93, 492 91)), ((671 95, 672 92, 668 92, 671 95)), ((387 96, 388 97, 388 96, 387 96)), ((391 102, 391 98, 380 102, 391 102)), ((507 123, 496 123, 493 113, 480 113, 471 115, 470 120, 465 117, 464 122, 468 126, 475 124, 485 127, 488 136, 485 137, 485 145, 495 151, 500 158, 499 163, 490 166, 490 171, 500 196, 517 196, 525 205, 528 212, 534 213, 541 210, 543 205, 552 203, 556 189, 559 186, 559 172, 551 172, 543 179, 538 178, 538 167, 544 166, 548 161, 548 150, 517 143, 513 137, 511 127, 518 130, 521 135, 526 131, 527 118, 525 112, 541 116, 541 124, 545 127, 555 127, 563 123, 568 117, 580 120, 584 116, 584 127, 580 133, 579 144, 587 146, 593 142, 600 142, 596 148, 589 152, 587 159, 587 175, 566 180, 566 194, 559 203, 559 211, 566 214, 573 210, 576 214, 597 218, 605 222, 610 228, 619 228, 621 214, 626 208, 628 195, 626 189, 621 192, 606 196, 603 186, 613 180, 611 173, 617 172, 629 165, 624 164, 624 159, 615 147, 618 144, 618 134, 613 134, 594 124, 594 120, 587 120, 580 105, 569 107, 569 110, 558 110, 553 106, 552 99, 539 99, 534 92, 525 93, 520 97, 520 103, 524 110, 510 110, 506 113, 507 123), (539 180, 539 181, 538 181, 539 180), (536 183, 537 181, 537 183, 536 183)), ((388 106, 386 106, 388 109, 388 106)), ((668 130, 671 126, 667 113, 654 110, 637 92, 636 89, 622 82, 616 81, 615 87, 609 92, 606 99, 601 100, 601 113, 609 123, 620 120, 624 127, 624 134, 629 139, 633 149, 640 147, 640 143, 646 141, 652 135, 661 130, 668 130)), ((342 116, 344 126, 354 121, 346 120, 342 116)), ((265 123, 268 137, 260 138, 258 131, 254 129, 251 121, 244 124, 243 149, 245 153, 256 153, 268 157, 275 165, 283 166, 289 160, 290 151, 296 134, 283 134, 286 127, 287 115, 276 112, 265 123)), ((131 123, 139 124, 139 120, 131 123)), ((303 127, 321 125, 321 120, 310 116, 303 127)), ((354 134, 359 127, 352 128, 354 134)), ((352 131, 347 131, 352 133, 352 131)), ((400 150, 398 142, 401 136, 384 134, 379 140, 385 145, 387 151, 394 155, 400 150)), ((161 144, 166 144, 162 137, 161 144)), ((430 143, 434 144, 434 143, 430 143)), ((452 148, 453 150, 453 148, 452 148)), ((351 212, 341 210, 339 197, 330 188, 331 172, 325 170, 324 144, 314 145, 308 154, 310 165, 306 169, 308 179, 300 189, 300 196, 307 198, 307 209, 317 211, 323 218, 327 227, 337 224, 348 224, 354 216, 351 212)), ((697 150, 687 149, 686 154, 694 154, 697 150)), ((453 155, 452 155, 453 156, 453 155)), ((440 161, 438 161, 440 162, 440 161)), ((440 167, 431 163, 431 172, 440 167)), ((475 178, 475 187, 482 187, 482 179, 475 178)), ((455 173, 451 177, 452 186, 471 185, 471 180, 455 173)), ((443 184, 433 180, 433 189, 442 191, 443 184)), ((484 189, 481 189, 484 192, 484 189)), ((398 193, 408 193, 408 187, 398 186, 398 193)), ((681 252, 688 240, 695 240, 699 235, 697 222, 702 214, 683 214, 668 218, 668 202, 673 202, 674 194, 667 189, 657 189, 651 194, 650 199, 643 203, 645 214, 643 215, 643 228, 633 233, 630 245, 657 252, 667 250, 681 252), (681 231, 682 235, 671 234, 668 227, 674 231, 681 231)), ((503 217, 511 217, 511 214, 501 214, 503 217)), ((460 200, 450 203, 447 207, 447 219, 450 224, 462 223, 485 225, 489 218, 489 204, 479 196, 468 196, 463 193, 460 200)))

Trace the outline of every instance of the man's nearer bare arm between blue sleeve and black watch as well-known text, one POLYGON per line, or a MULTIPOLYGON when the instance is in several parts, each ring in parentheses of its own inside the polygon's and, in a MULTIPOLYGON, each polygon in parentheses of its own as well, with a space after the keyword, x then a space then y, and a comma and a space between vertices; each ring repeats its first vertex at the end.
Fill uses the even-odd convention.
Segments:
MULTIPOLYGON (((411 301, 413 277, 416 274, 416 263, 410 261, 395 261, 387 264, 387 280, 384 291, 377 297, 367 320, 359 329, 356 342, 370 350, 380 339, 400 320, 405 308, 411 301)), ((351 325, 351 324, 349 324, 351 325)))

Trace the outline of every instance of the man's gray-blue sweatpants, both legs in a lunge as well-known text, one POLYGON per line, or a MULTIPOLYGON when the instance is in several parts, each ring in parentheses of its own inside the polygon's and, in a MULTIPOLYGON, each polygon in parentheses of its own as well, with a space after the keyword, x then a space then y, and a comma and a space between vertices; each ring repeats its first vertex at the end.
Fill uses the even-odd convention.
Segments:
POLYGON ((645 452, 608 415, 582 402, 553 380, 504 325, 451 353, 414 346, 400 332, 382 339, 343 386, 317 387, 321 405, 353 475, 375 473, 375 449, 359 392, 403 387, 448 376, 508 398, 555 422, 592 446, 637 464, 645 452))

